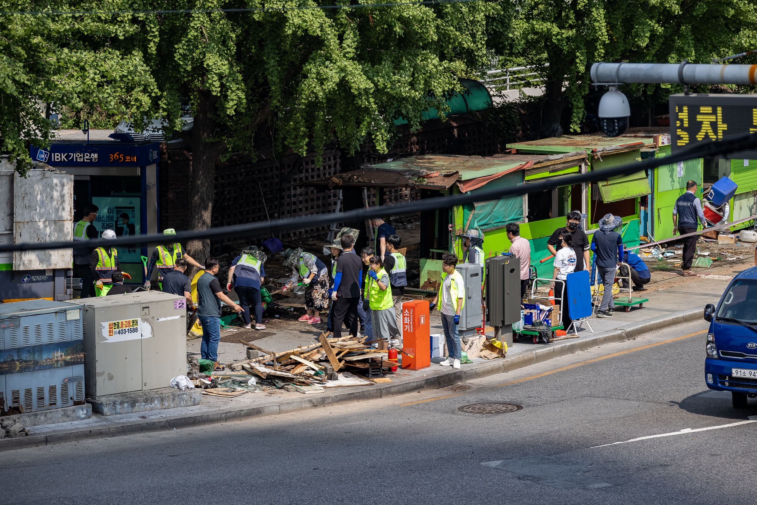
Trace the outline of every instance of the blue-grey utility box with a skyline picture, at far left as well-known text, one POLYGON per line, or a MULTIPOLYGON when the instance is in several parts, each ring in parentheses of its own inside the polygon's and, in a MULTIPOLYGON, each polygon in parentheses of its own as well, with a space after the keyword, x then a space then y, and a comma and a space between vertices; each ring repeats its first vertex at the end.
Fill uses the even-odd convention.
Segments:
POLYGON ((61 301, 0 304, 0 409, 84 403, 82 310, 61 301))

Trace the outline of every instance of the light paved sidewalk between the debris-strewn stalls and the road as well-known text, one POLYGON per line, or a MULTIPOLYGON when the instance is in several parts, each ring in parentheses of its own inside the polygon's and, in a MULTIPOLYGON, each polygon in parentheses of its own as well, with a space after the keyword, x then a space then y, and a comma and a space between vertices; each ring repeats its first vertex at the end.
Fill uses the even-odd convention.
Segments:
MULTIPOLYGON (((643 295, 643 298, 649 298, 643 308, 634 307, 628 313, 618 311, 611 318, 592 317, 590 324, 593 332, 584 325, 584 328, 579 330, 579 338, 556 341, 552 344, 533 344, 531 341, 522 339, 509 348, 504 360, 484 360, 476 357, 473 358, 473 363, 454 370, 449 366, 438 365, 441 360, 437 359, 435 360, 437 363, 431 363, 431 366, 422 370, 398 369, 397 373, 391 376, 392 382, 386 384, 327 388, 325 392, 319 394, 301 394, 276 389, 263 393, 243 394, 234 398, 204 395, 201 404, 195 407, 153 410, 118 416, 93 414, 92 418, 81 421, 32 426, 30 427, 31 434, 26 437, 0 440, 0 450, 58 444, 84 438, 114 437, 185 428, 314 407, 328 407, 334 404, 366 401, 425 389, 444 388, 459 382, 506 373, 554 357, 584 351, 600 344, 623 341, 646 332, 698 320, 702 317, 702 308, 706 304, 717 303, 731 277, 749 267, 752 265, 747 262, 730 263, 725 267, 700 272, 702 276, 699 277, 682 277, 670 273, 662 276, 655 274, 653 282, 647 285, 646 291, 637 293, 637 296, 643 295)), ((431 318, 431 332, 441 332, 441 320, 438 313, 435 314, 431 318)), ((281 323, 269 325, 268 330, 274 329, 272 326, 277 327, 271 332, 273 335, 255 341, 260 347, 269 351, 285 351, 295 348, 298 344, 310 344, 313 342, 313 335, 319 335, 322 331, 319 328, 311 329, 285 321, 277 320, 273 323, 281 323), (285 326, 290 327, 288 331, 285 330, 285 326)), ((229 338, 236 338, 236 333, 232 332, 234 336, 229 338)), ((187 348, 188 354, 198 351, 199 339, 188 341, 187 348)), ((244 352, 241 344, 221 342, 221 348, 223 357, 234 357, 234 359, 244 357, 241 356, 244 352)))

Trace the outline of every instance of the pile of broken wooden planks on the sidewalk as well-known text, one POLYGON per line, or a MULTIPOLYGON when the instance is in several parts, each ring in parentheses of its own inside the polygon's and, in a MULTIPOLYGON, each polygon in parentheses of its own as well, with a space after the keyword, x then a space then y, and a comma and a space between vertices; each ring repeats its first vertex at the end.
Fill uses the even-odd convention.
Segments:
POLYGON ((397 370, 397 360, 389 360, 388 350, 365 344, 366 338, 329 338, 329 334, 322 333, 317 344, 279 353, 240 339, 241 344, 259 355, 229 363, 230 372, 203 372, 199 362, 204 360, 198 360, 196 371, 190 363, 188 379, 195 387, 203 388, 204 394, 222 397, 276 388, 312 394, 322 393, 324 388, 391 382, 386 374, 397 370))

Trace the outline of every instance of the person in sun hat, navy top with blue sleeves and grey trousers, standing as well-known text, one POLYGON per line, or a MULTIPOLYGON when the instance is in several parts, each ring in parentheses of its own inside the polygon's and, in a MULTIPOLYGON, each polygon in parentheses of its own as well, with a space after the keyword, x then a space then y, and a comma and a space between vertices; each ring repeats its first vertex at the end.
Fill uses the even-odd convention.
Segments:
MULTIPOLYGON (((615 228, 621 226, 623 218, 605 214, 600 219, 600 231, 591 237, 591 250, 594 251, 594 262, 597 264, 597 276, 600 276, 604 292, 597 317, 612 317, 615 313, 615 302, 612 301, 612 285, 615 283, 615 272, 618 263, 623 259, 623 238, 615 228)), ((578 254, 576 255, 578 259, 578 254)))

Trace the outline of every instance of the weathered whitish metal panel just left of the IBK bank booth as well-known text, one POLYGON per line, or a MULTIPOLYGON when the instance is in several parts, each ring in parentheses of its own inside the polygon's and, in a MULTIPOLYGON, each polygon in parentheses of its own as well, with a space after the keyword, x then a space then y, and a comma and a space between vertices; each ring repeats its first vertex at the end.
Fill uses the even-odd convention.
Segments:
MULTIPOLYGON (((14 241, 52 242, 73 236, 73 176, 58 170, 30 170, 13 181, 14 241)), ((14 270, 70 268, 71 249, 17 251, 14 270)))

